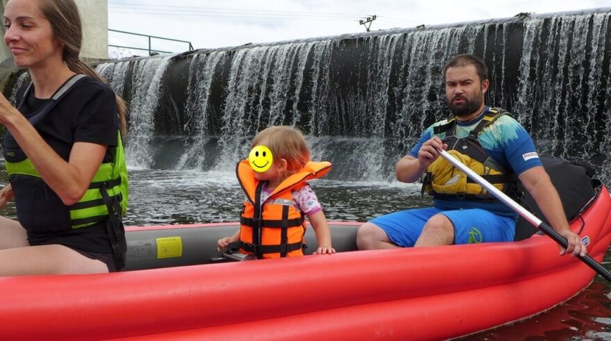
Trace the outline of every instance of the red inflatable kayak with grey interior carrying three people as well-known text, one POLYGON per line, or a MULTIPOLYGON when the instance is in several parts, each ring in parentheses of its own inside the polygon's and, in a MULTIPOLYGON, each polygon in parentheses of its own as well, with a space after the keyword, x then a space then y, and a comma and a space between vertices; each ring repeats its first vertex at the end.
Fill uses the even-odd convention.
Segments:
MULTIPOLYGON (((0 340, 439 340, 540 313, 595 275, 544 235, 355 251, 359 225, 331 224, 335 255, 251 262, 216 251, 235 223, 128 228, 131 271, 0 278, 0 340)), ((605 188, 571 228, 600 262, 605 188)))

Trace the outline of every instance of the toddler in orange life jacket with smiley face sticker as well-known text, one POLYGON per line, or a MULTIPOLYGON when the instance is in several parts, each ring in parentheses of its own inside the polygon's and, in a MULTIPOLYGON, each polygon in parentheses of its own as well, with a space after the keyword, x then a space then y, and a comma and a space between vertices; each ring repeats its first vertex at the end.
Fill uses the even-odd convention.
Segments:
POLYGON ((331 164, 310 161, 301 131, 290 126, 261 131, 251 146, 248 160, 236 169, 246 194, 240 230, 221 238, 219 251, 239 247, 249 255, 245 259, 303 256, 307 216, 318 242, 314 253, 335 253, 321 205, 305 182, 327 174, 331 164))

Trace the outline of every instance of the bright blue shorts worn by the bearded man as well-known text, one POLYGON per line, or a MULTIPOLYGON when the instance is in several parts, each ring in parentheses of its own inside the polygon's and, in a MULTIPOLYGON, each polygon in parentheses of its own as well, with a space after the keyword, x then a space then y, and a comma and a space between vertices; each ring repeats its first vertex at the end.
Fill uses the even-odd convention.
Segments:
POLYGON ((454 244, 511 242, 515 235, 516 222, 512 217, 495 215, 480 208, 415 208, 383 215, 370 222, 382 228, 394 244, 413 247, 424 224, 437 213, 445 215, 454 224, 454 244))

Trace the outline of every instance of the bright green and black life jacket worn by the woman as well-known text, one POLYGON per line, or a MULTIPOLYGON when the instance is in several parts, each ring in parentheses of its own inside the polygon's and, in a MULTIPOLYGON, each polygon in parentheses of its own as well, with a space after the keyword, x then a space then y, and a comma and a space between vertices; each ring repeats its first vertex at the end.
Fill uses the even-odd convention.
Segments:
MULTIPOLYGON (((74 76, 57 90, 56 93, 53 94, 53 97, 51 97, 35 115, 28 117, 31 124, 35 125, 42 117, 47 115, 56 103, 69 92, 72 85, 80 78, 83 78, 83 76, 84 75, 74 76)), ((30 89, 31 85, 26 90, 22 103, 27 98, 30 89)), ((19 105, 19 108, 22 103, 19 105)), ((108 153, 111 157, 104 158, 103 163, 101 163, 95 173, 89 188, 87 188, 81 200, 71 206, 67 206, 69 212, 69 228, 74 229, 91 226, 108 219, 109 215, 125 215, 128 202, 128 178, 121 133, 117 132, 117 147, 108 147, 108 153)), ((44 199, 39 199, 37 195, 32 198, 17 198, 18 195, 30 195, 28 193, 19 193, 19 185, 21 183, 26 183, 27 186, 30 187, 37 186, 38 188, 47 188, 47 184, 44 183, 40 177, 40 173, 35 169, 31 160, 27 158, 15 139, 12 138, 9 131, 6 131, 4 137, 4 154, 6 171, 8 172, 10 183, 15 192, 16 203, 19 201, 31 201, 33 205, 36 206, 36 201, 44 199)), ((49 193, 49 195, 56 196, 57 194, 49 193)), ((48 204, 53 206, 53 204, 57 205, 57 202, 58 200, 49 201, 48 204)), ((65 209, 63 210, 65 211, 65 209)), ((17 211, 19 215, 19 207, 17 207, 17 211)), ((61 213, 62 210, 58 209, 58 211, 60 212, 59 214, 63 214, 61 213)), ((44 217, 42 218, 44 219, 44 217)), ((68 219, 62 219, 62 221, 67 222, 68 219)), ((28 226, 24 227, 28 228, 28 226)), ((67 228, 68 226, 56 226, 54 230, 65 230, 67 228)))

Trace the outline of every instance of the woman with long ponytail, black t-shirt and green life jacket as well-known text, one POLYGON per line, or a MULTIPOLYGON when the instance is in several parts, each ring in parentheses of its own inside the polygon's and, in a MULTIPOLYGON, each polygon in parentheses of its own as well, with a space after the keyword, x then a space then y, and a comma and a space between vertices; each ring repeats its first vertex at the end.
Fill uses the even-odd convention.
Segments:
POLYGON ((0 276, 119 271, 124 103, 78 58, 73 0, 10 0, 4 26, 15 65, 32 83, 17 92, 17 108, 0 95, 10 179, 0 208, 14 198, 17 209, 17 221, 0 217, 0 276))

